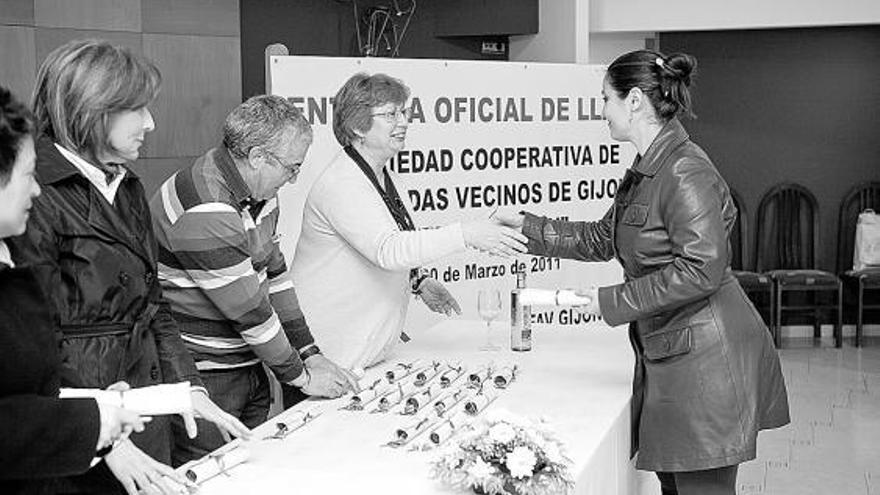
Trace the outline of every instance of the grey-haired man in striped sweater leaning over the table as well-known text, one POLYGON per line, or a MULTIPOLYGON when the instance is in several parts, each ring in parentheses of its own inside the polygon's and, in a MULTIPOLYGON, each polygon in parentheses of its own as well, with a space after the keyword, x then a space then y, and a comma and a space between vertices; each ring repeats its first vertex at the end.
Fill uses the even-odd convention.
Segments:
MULTIPOLYGON (((256 96, 229 114, 223 133, 223 145, 171 176, 150 209, 181 337, 211 397, 252 428, 269 412, 261 363, 307 395, 338 397, 357 380, 315 345, 275 235, 276 194, 296 180, 312 142, 308 121, 284 98, 256 96)), ((224 439, 201 424, 195 441, 175 434, 175 442, 182 463, 224 439)))

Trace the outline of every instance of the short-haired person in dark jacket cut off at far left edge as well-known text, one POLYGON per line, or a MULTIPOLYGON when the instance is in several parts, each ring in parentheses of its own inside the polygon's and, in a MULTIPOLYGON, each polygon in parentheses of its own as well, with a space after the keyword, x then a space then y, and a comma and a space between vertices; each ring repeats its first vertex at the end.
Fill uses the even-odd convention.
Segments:
POLYGON ((58 354, 46 300, 5 238, 24 232, 33 198, 30 113, 0 87, 0 493, 52 493, 53 479, 83 473, 137 414, 94 399, 58 398, 58 354))

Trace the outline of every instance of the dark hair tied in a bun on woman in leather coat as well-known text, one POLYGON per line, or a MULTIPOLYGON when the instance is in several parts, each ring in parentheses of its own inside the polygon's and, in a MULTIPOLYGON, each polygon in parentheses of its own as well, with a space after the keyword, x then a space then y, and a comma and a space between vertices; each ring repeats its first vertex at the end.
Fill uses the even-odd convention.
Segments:
POLYGON ((691 93, 688 89, 697 68, 697 59, 686 53, 669 57, 650 50, 637 50, 617 57, 608 66, 608 83, 621 98, 629 90, 642 90, 657 113, 666 122, 691 111, 691 93))

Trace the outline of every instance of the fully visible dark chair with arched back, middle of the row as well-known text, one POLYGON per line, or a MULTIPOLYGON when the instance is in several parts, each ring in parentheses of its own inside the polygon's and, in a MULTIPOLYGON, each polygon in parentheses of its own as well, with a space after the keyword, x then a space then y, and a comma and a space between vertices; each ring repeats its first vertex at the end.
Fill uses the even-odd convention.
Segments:
POLYGON ((773 279, 775 307, 771 331, 776 346, 781 344, 783 314, 812 314, 813 336, 820 337, 820 317, 836 312, 834 345, 840 347, 843 284, 835 274, 818 269, 816 197, 799 184, 779 184, 764 194, 756 222, 755 269, 773 279))

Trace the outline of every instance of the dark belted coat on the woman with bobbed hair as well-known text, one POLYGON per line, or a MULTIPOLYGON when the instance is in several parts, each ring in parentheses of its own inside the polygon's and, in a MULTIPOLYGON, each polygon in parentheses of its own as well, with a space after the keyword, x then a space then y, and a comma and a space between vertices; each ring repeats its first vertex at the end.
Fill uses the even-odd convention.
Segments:
MULTIPOLYGON (((34 268, 57 313, 62 386, 106 388, 119 380, 132 387, 201 385, 162 299, 156 239, 138 177, 126 172, 111 205, 45 137, 37 142, 36 171, 42 195, 25 234, 9 244, 16 263, 34 268)), ((170 434, 162 417, 131 438, 168 463, 170 434)), ((85 486, 94 491, 90 483, 85 486)))

